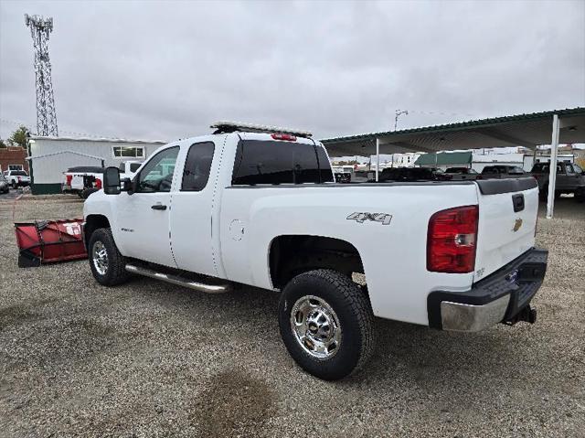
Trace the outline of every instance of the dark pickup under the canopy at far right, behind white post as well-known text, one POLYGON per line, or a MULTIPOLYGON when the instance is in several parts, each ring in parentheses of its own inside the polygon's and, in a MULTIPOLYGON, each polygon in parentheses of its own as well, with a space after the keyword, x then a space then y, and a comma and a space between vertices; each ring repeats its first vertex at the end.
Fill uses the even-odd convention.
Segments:
MULTIPOLYGON (((546 201, 550 163, 537 163, 532 167, 531 174, 537 179, 540 200, 546 201)), ((585 172, 575 163, 557 163, 555 197, 559 197, 563 193, 573 193, 577 201, 585 202, 585 172)))

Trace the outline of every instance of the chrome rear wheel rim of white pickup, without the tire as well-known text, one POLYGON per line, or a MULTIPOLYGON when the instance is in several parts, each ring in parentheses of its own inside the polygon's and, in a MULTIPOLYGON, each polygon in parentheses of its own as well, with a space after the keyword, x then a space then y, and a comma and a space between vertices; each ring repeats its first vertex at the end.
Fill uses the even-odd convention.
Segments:
POLYGON ((313 358, 333 358, 341 345, 339 318, 318 296, 305 295, 294 303, 291 328, 299 345, 313 358))

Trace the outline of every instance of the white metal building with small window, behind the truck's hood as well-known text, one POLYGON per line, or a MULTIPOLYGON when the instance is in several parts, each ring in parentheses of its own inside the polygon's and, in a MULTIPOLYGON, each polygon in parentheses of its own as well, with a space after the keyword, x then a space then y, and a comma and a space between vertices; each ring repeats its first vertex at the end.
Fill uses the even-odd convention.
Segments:
POLYGON ((74 166, 120 166, 144 161, 165 142, 31 136, 28 164, 35 195, 60 193, 63 172, 74 166))

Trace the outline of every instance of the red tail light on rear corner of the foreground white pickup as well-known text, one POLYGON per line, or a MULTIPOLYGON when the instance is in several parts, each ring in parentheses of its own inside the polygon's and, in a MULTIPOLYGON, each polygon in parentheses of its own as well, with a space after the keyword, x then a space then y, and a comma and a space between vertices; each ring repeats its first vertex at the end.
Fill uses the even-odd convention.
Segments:
POLYGON ((478 219, 477 206, 450 208, 431 216, 427 236, 428 271, 473 272, 478 219))

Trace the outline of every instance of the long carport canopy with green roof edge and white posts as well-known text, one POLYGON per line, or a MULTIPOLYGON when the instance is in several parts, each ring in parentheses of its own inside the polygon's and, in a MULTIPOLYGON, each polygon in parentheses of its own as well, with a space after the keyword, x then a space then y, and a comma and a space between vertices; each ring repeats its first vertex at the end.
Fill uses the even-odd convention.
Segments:
MULTIPOLYGON (((330 157, 405 152, 436 153, 524 146, 551 145, 551 160, 557 160, 558 144, 585 143, 585 107, 533 112, 504 117, 448 123, 372 134, 349 135, 322 140, 330 157)), ((378 168, 376 174, 378 179, 378 168)), ((555 166, 550 166, 547 217, 554 207, 555 166)))

